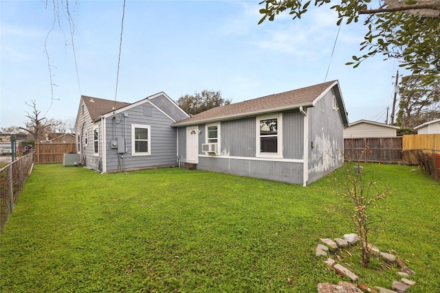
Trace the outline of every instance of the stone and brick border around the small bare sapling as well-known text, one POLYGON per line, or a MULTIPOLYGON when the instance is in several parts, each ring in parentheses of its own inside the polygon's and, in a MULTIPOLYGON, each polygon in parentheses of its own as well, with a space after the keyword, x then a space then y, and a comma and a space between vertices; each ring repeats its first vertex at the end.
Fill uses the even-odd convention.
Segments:
MULTIPOLYGON (((345 248, 349 245, 353 246, 359 241, 358 235, 355 233, 351 234, 344 234, 344 238, 320 238, 320 241, 322 243, 318 244, 316 246, 316 256, 326 256, 329 249, 336 250, 340 248, 345 248)), ((330 257, 325 259, 324 263, 326 264, 327 268, 335 270, 337 274, 339 274, 342 277, 348 277, 351 279, 353 283, 355 283, 356 286, 354 288, 349 288, 347 284, 341 284, 344 282, 338 283, 338 285, 334 285, 331 283, 319 283, 318 284, 318 293, 332 293, 332 292, 338 292, 338 293, 349 293, 349 292, 362 292, 359 288, 362 290, 365 290, 366 292, 372 292, 372 293, 401 293, 405 292, 409 288, 411 288, 412 285, 416 285, 417 283, 415 281, 411 281, 407 279, 410 277, 410 275, 415 274, 413 270, 408 268, 404 261, 401 259, 397 259, 394 255, 391 253, 383 253, 380 251, 379 248, 376 246, 370 245, 369 248, 371 251, 371 254, 376 255, 378 257, 382 257, 386 262, 388 263, 398 263, 400 266, 400 272, 397 272, 399 277, 401 277, 400 281, 393 281, 393 284, 391 285, 391 288, 393 290, 382 288, 379 286, 375 286, 374 288, 369 287, 368 285, 365 285, 364 283, 359 281, 358 275, 351 272, 347 268, 344 268, 340 263, 337 263, 335 260, 331 259, 330 257), (394 291, 396 290, 396 291, 394 291)), ((347 283, 347 282, 345 282, 347 283)))

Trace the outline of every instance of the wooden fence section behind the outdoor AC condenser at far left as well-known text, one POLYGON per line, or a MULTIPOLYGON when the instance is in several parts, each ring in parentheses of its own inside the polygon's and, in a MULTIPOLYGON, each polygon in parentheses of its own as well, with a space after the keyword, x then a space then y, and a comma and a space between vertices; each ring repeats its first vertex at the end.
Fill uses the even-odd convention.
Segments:
POLYGON ((36 163, 63 163, 63 154, 75 154, 75 143, 35 143, 36 163))

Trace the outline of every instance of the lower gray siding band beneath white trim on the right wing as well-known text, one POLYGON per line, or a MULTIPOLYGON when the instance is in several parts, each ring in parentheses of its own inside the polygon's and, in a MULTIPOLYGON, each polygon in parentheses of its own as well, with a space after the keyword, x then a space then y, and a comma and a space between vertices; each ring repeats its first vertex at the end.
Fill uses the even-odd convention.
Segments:
POLYGON ((296 184, 303 183, 303 163, 200 157, 197 169, 296 184))

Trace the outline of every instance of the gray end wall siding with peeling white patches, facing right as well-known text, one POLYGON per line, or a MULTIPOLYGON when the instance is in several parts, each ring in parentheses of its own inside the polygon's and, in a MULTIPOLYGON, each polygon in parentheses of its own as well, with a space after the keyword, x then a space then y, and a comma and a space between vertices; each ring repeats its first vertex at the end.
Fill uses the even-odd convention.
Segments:
POLYGON ((309 183, 344 163, 344 126, 339 110, 333 110, 329 91, 314 108, 309 108, 309 183), (314 148, 311 148, 314 141, 314 148))

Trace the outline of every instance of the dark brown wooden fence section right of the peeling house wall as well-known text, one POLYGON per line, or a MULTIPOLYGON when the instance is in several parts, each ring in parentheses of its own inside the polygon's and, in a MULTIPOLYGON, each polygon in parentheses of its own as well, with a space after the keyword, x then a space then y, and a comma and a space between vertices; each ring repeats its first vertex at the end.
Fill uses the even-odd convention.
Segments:
POLYGON ((401 137, 344 139, 345 161, 399 163, 401 150, 401 137))

